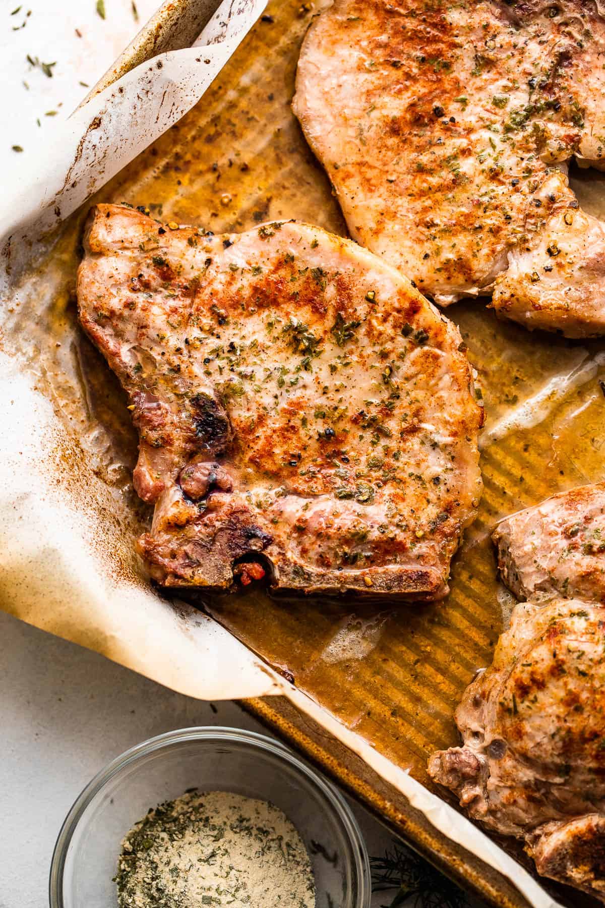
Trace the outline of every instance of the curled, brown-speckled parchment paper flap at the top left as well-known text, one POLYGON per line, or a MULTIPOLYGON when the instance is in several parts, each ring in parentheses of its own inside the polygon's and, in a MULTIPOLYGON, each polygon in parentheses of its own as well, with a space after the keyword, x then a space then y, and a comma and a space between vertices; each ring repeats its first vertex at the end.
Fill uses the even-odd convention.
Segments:
POLYGON ((50 148, 40 143, 33 160, 17 158, 3 187, 0 290, 31 262, 36 241, 200 100, 266 5, 267 0, 217 4, 192 47, 159 54, 91 93, 50 148))

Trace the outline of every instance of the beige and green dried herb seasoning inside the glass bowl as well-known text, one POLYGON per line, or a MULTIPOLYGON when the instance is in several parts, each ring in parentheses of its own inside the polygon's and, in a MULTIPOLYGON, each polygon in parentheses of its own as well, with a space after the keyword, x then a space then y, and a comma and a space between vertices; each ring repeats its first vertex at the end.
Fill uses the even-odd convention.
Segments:
POLYGON ((122 842, 119 908, 315 908, 307 849, 273 804, 186 792, 151 809, 122 842))

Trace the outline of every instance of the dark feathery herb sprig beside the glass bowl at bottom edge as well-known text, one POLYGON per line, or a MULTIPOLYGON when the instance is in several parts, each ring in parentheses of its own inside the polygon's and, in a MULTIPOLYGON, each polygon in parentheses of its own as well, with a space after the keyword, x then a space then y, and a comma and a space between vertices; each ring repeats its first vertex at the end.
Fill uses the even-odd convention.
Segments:
POLYGON ((398 908, 413 899, 414 908, 467 908, 462 889, 432 864, 403 845, 394 844, 384 857, 370 858, 372 891, 398 889, 395 898, 383 908, 398 908))

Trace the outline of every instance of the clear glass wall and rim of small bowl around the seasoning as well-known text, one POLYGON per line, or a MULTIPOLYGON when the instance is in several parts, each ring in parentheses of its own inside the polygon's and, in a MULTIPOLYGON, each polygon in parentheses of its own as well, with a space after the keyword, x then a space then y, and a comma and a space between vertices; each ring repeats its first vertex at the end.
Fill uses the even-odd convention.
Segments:
POLYGON ((278 741, 220 726, 153 737, 95 775, 54 847, 51 908, 115 908, 123 836, 150 807, 193 787, 276 804, 307 846, 317 908, 369 908, 366 846, 344 798, 278 741))

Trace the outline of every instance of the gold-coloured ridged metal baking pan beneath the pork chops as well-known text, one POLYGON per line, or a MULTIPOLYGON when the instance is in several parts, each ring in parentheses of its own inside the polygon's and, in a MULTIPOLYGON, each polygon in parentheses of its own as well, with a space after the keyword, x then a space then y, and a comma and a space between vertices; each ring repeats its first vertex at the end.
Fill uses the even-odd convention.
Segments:
MULTIPOLYGON (((321 5, 270 3, 200 103, 96 199, 145 205, 165 221, 215 232, 297 218, 346 233, 327 178, 290 109, 298 49, 321 5)), ((164 4, 93 92, 161 50, 190 44, 215 6, 200 0, 164 4)), ((603 197, 600 185, 599 178, 585 176, 576 186, 593 210, 603 197)), ((85 408, 98 421, 112 469, 117 465, 126 474, 136 439, 121 391, 83 337, 73 307, 84 215, 73 216, 54 251, 60 277, 36 322, 49 338, 41 348, 42 373, 52 394, 68 401, 63 413, 69 410, 77 420, 85 408), (75 350, 75 356, 66 350, 75 350)), ((494 522, 559 489, 602 479, 605 472, 603 375, 600 360, 591 360, 602 345, 498 322, 484 301, 458 304, 448 314, 468 345, 488 413, 483 501, 454 561, 450 596, 382 611, 354 599, 272 598, 259 592, 206 602, 231 633, 428 787, 433 786, 426 759, 434 749, 456 743, 454 707, 476 670, 491 662, 512 607, 497 583, 489 540, 494 522), (568 379, 558 383, 562 375, 568 379), (520 402, 533 398, 534 417, 523 424, 511 421, 520 402)), ((403 795, 286 698, 248 700, 244 706, 488 903, 527 905, 512 883, 438 833, 403 795)), ((443 790, 437 794, 449 797, 443 790)), ((532 871, 514 843, 500 844, 532 871)), ((590 903, 581 893, 541 882, 563 904, 590 903)))

